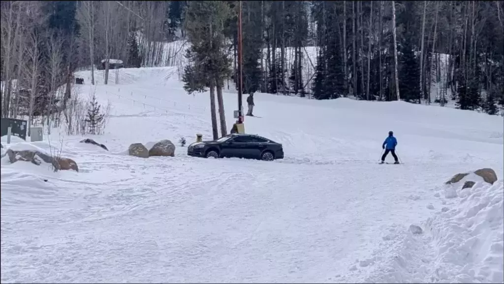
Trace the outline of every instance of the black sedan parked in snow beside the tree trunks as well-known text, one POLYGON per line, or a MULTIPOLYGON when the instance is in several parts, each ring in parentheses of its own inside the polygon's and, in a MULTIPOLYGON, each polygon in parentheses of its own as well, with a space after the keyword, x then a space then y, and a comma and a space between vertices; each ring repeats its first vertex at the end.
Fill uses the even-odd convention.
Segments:
POLYGON ((282 144, 253 134, 229 134, 189 145, 187 155, 204 158, 283 159, 282 144))

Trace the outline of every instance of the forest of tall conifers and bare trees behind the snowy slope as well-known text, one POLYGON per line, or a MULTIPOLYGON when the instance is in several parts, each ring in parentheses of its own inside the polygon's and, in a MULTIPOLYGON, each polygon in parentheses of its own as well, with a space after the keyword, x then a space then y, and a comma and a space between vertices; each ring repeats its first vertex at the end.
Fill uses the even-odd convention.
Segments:
POLYGON ((502 1, 2 1, 2 117, 64 111, 74 72, 108 84, 115 59, 177 65, 221 108, 239 85, 238 5, 243 94, 504 115, 502 1))

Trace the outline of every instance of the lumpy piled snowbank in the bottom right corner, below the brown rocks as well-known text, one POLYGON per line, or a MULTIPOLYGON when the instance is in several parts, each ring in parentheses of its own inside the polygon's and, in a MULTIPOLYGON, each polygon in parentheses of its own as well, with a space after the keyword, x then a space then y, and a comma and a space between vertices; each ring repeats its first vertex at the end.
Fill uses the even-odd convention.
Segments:
MULTIPOLYGON (((445 190, 458 186, 459 199, 443 200, 446 206, 423 222, 421 234, 404 226, 391 227, 383 237, 383 247, 367 260, 377 265, 363 281, 502 283, 504 181, 493 185, 476 181, 472 188, 461 190, 463 183, 444 186, 445 190)), ((357 270, 357 265, 349 270, 357 270)))

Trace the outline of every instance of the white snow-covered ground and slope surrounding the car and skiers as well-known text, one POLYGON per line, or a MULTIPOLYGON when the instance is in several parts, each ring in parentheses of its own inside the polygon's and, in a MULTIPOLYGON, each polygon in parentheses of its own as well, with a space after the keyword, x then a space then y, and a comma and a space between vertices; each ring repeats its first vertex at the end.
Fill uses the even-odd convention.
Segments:
MULTIPOLYGON (((53 129, 34 145, 79 172, 2 159, 2 282, 502 283, 501 117, 256 94, 245 130, 282 143, 285 159, 191 158, 178 145, 142 159, 123 153, 210 138, 208 93, 184 93, 176 67, 120 69, 118 85, 101 75, 111 118, 86 137, 110 152, 53 129), (377 163, 389 130, 403 165, 377 163), (444 185, 485 167, 493 185, 444 185)), ((224 100, 230 129, 236 95, 224 100)))

